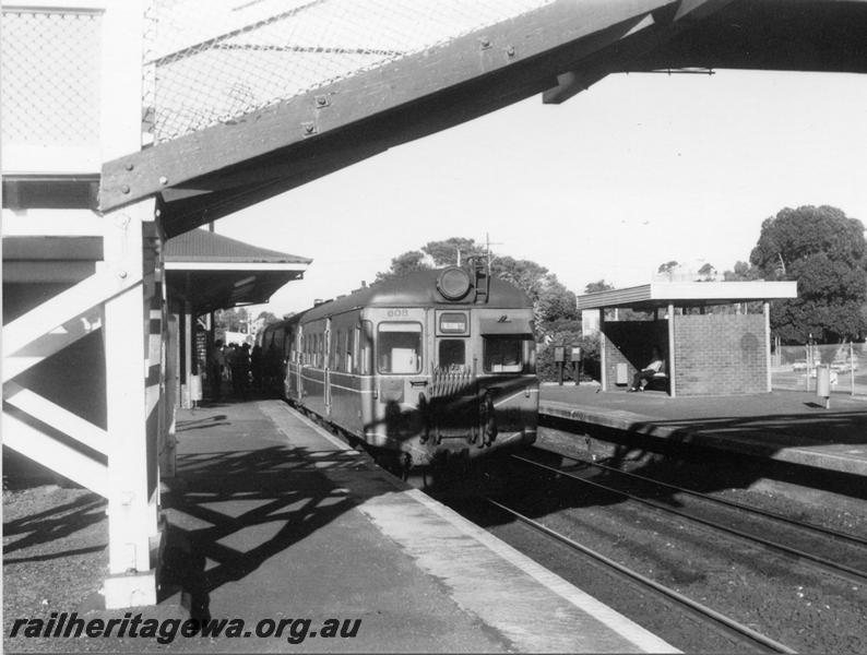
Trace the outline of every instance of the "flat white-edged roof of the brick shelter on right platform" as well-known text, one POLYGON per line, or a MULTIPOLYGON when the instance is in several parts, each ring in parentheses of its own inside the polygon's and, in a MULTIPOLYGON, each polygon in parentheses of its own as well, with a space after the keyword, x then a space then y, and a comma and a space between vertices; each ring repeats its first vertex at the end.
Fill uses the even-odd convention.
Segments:
POLYGON ((706 307, 797 298, 796 282, 653 282, 578 297, 578 309, 706 307))

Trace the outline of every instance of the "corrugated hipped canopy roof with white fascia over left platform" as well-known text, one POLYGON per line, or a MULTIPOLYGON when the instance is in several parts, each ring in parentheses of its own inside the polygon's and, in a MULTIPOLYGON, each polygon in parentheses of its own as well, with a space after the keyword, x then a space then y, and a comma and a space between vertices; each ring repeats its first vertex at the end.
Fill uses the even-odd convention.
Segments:
POLYGON ((200 314, 268 302, 283 285, 304 277, 313 260, 258 248, 203 229, 166 241, 169 294, 200 314))

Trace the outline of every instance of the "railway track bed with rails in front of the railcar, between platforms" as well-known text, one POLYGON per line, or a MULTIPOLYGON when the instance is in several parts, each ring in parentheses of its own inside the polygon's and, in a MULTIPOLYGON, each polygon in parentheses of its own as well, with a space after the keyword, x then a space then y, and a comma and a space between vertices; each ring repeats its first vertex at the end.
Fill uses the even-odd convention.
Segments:
POLYGON ((669 643, 692 652, 717 651, 720 640, 736 643, 723 651, 864 652, 863 536, 581 453, 527 449, 508 462, 494 476, 508 484, 495 485, 492 498, 479 499, 487 512, 470 509, 471 517, 477 512, 473 520, 669 643))

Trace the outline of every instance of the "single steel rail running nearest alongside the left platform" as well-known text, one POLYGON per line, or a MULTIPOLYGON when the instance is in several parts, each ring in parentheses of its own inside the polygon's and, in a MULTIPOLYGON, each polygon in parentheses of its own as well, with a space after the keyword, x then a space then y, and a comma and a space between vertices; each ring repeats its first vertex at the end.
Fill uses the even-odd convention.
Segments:
POLYGON ((653 592, 664 596, 668 600, 674 602, 676 605, 678 605, 681 608, 686 609, 691 615, 698 617, 700 620, 703 620, 703 621, 706 621, 709 623, 712 623, 715 627, 721 627, 726 632, 728 632, 729 634, 733 634, 736 638, 738 638, 738 639, 740 639, 740 640, 743 640, 745 642, 758 645, 761 648, 763 648, 764 651, 768 651, 768 652, 771 652, 771 653, 795 653, 796 652, 795 650, 789 648, 785 644, 782 644, 782 643, 780 643, 780 642, 777 642, 777 641, 775 641, 775 640, 773 640, 773 639, 771 639, 771 638, 769 638, 769 636, 767 636, 764 634, 761 634, 760 632, 758 632, 756 630, 752 630, 748 626, 745 626, 744 623, 741 623, 741 622, 739 622, 739 621, 737 621, 737 620, 735 620, 733 618, 729 618, 729 617, 727 617, 727 616, 725 616, 725 615, 723 615, 723 614, 721 614, 721 612, 718 612, 718 611, 716 611, 716 610, 714 610, 714 609, 712 609, 710 607, 706 607, 705 605, 702 605, 701 603, 697 603, 696 600, 692 600, 692 599, 688 598, 684 594, 680 594, 680 593, 676 592, 675 590, 672 590, 670 587, 662 585, 662 584, 655 582, 654 580, 651 580, 650 577, 646 577, 645 575, 642 575, 641 573, 639 573, 639 572, 637 572, 637 571, 634 571, 632 569, 629 569, 629 568, 625 567, 623 564, 620 564, 620 563, 614 561, 613 559, 610 559, 608 557, 605 557, 604 555, 602 555, 602 553, 599 553, 599 552, 597 552, 597 551, 595 551, 595 550, 593 550, 593 549, 591 549, 591 548, 589 548, 589 547, 586 547, 586 546, 584 546, 582 544, 579 544, 578 541, 575 541, 573 539, 570 539, 569 537, 560 534, 559 532, 557 532, 557 531, 544 525, 543 523, 541 523, 538 521, 534 521, 533 519, 530 519, 528 516, 525 516, 521 512, 518 512, 518 511, 507 507, 506 504, 502 504, 501 502, 498 502, 498 501, 496 501, 496 500, 494 500, 491 498, 486 498, 485 500, 488 503, 490 503, 491 505, 494 505, 497 509, 499 509, 500 511, 506 512, 510 516, 521 521, 525 525, 528 525, 534 531, 537 531, 537 532, 539 532, 539 533, 542 533, 542 534, 544 534, 544 535, 546 535, 546 536, 548 536, 548 537, 550 537, 553 539, 556 539, 560 544, 567 546, 568 548, 570 548, 571 550, 573 550, 575 552, 581 553, 584 557, 591 558, 594 561, 602 563, 603 565, 605 565, 607 569, 613 571, 616 575, 620 576, 621 579, 625 579, 626 581, 628 581, 628 582, 630 582, 632 584, 639 584, 639 585, 641 585, 641 586, 643 586, 645 588, 652 590, 653 592))

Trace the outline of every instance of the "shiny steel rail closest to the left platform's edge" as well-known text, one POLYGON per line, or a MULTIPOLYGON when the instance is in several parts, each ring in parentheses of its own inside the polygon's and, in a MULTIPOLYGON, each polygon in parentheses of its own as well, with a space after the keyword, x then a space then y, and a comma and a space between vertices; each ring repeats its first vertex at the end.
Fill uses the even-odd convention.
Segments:
POLYGON ((689 607, 692 611, 694 611, 694 612, 697 612, 697 614, 699 614, 699 615, 701 615, 703 617, 706 617, 709 619, 712 619, 713 621, 716 621, 717 623, 721 623, 721 624, 725 626, 728 630, 732 630, 732 631, 736 632, 737 634, 739 634, 741 636, 746 636, 747 639, 749 639, 749 640, 751 640, 751 641, 753 641, 753 642, 756 642, 758 644, 761 644, 762 646, 764 646, 767 648, 771 648, 775 653, 796 653, 797 652, 797 651, 794 651, 794 650, 789 648, 785 644, 782 644, 782 643, 780 643, 777 641, 772 640, 769 636, 765 636, 764 634, 761 634, 760 632, 756 632, 755 630, 752 630, 751 628, 748 628, 747 626, 744 626, 743 623, 738 623, 734 619, 731 619, 731 618, 726 617, 725 615, 722 615, 718 611, 702 605, 701 603, 697 603, 696 600, 692 600, 691 598, 685 596, 684 594, 680 594, 680 593, 678 593, 678 592, 676 592, 676 591, 674 591, 672 588, 668 588, 667 586, 662 585, 658 582, 656 582, 654 580, 651 580, 650 577, 646 577, 645 575, 642 575, 641 573, 638 573, 637 571, 632 571, 631 569, 628 569, 627 567, 623 567, 619 562, 616 562, 613 559, 607 558, 604 555, 602 555, 599 552, 596 552, 595 550, 592 550, 591 548, 587 548, 586 546, 583 546, 583 545, 579 544, 578 541, 574 541, 574 540, 570 539, 566 535, 561 535, 560 533, 549 528, 547 525, 543 525, 542 523, 539 523, 537 521, 534 521, 533 519, 530 519, 528 516, 525 516, 524 514, 521 514, 520 512, 516 512, 515 510, 513 510, 513 509, 511 509, 511 508, 509 508, 509 507, 507 507, 507 505, 504 505, 502 503, 499 503, 496 500, 492 500, 490 498, 486 498, 485 500, 487 500, 492 505, 499 508, 500 510, 502 510, 504 512, 508 512, 509 514, 513 515, 519 521, 522 521, 523 523, 526 523, 527 525, 534 527, 535 529, 548 535, 549 537, 553 537, 553 538, 557 539, 558 541, 561 541, 562 544, 566 544, 570 548, 573 548, 574 550, 578 550, 579 552, 582 552, 582 553, 586 555, 587 557, 593 558, 593 559, 604 563, 605 565, 610 567, 611 569, 614 569, 617 572, 619 572, 621 575, 625 575, 626 577, 629 577, 630 580, 634 580, 634 581, 637 581, 637 582, 639 582, 639 583, 641 583, 641 584, 643 584, 645 586, 649 586, 652 590, 658 592, 660 594, 662 594, 662 595, 664 595, 664 596, 666 596, 668 598, 672 598, 673 600, 675 600, 675 602, 677 602, 677 603, 679 603, 681 605, 685 605, 686 607, 689 607))

